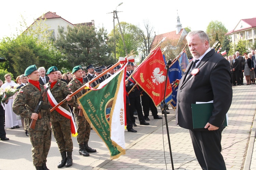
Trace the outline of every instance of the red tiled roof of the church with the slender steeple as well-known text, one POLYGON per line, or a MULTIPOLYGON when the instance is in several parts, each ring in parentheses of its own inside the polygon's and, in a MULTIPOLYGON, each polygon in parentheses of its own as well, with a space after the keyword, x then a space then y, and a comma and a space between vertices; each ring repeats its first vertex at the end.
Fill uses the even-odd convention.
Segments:
POLYGON ((170 41, 170 44, 172 46, 177 46, 177 43, 180 40, 183 29, 184 28, 182 28, 178 34, 176 34, 176 31, 171 31, 171 32, 156 35, 154 37, 154 40, 152 41, 151 46, 152 47, 156 46, 163 39, 163 37, 166 37, 165 41, 170 41))

